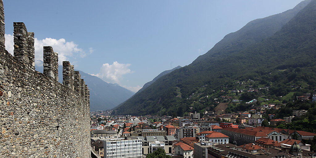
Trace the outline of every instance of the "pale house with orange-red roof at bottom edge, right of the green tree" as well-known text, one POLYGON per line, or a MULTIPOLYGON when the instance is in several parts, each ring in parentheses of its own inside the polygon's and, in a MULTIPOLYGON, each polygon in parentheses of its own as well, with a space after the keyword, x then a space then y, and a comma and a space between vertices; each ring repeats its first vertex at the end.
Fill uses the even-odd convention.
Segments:
POLYGON ((194 148, 182 142, 173 145, 173 154, 182 155, 184 158, 193 158, 194 148))

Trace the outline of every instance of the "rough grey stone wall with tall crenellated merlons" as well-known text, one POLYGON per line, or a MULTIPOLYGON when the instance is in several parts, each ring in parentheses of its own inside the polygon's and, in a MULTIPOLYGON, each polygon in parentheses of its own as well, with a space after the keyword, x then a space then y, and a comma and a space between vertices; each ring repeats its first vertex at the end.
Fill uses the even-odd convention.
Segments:
POLYGON ((88 158, 89 90, 73 65, 45 46, 44 74, 34 69, 34 33, 14 23, 14 57, 4 46, 0 0, 0 157, 88 158))

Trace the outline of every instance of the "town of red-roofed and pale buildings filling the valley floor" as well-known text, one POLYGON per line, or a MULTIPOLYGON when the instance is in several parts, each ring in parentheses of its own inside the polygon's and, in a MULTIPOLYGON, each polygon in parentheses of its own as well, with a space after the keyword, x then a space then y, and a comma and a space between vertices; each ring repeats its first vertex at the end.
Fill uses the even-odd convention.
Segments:
MULTIPOLYGON (((301 101, 315 101, 312 98, 301 101)), ((308 111, 294 110, 283 118, 267 112, 282 106, 267 104, 232 113, 206 108, 183 117, 92 112, 91 147, 102 158, 120 152, 141 158, 161 149, 172 158, 315 158, 316 133, 280 128, 308 111)))

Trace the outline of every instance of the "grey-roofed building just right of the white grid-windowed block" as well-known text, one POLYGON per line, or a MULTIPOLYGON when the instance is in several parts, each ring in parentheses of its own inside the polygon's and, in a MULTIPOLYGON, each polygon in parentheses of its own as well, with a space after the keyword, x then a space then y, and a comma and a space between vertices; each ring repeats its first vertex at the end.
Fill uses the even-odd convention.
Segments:
MULTIPOLYGON (((175 140, 173 136, 147 136, 137 138, 142 140, 142 154, 153 153, 158 148, 164 149, 167 154, 172 154, 172 142, 175 140)), ((133 139, 133 137, 127 139, 133 139)))

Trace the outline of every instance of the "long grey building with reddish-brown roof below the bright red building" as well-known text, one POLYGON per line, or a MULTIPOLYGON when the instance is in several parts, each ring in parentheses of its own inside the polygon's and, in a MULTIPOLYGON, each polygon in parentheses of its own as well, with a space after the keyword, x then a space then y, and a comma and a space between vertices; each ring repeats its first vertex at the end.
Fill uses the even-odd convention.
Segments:
POLYGON ((262 131, 248 131, 246 129, 239 128, 224 128, 222 133, 229 137, 229 142, 237 145, 255 143, 256 140, 261 137, 268 137, 262 131))

